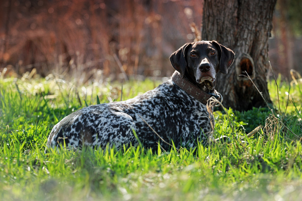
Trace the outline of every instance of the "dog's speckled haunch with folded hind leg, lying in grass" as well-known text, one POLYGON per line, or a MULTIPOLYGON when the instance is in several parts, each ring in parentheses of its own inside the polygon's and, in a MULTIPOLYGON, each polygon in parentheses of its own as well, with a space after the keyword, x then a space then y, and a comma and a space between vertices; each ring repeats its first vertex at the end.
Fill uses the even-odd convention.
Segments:
POLYGON ((136 143, 135 124, 130 115, 112 110, 90 109, 68 115, 56 124, 47 140, 49 147, 92 146, 106 148, 136 143))

